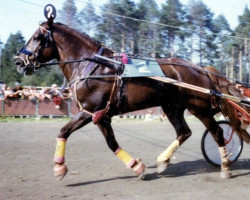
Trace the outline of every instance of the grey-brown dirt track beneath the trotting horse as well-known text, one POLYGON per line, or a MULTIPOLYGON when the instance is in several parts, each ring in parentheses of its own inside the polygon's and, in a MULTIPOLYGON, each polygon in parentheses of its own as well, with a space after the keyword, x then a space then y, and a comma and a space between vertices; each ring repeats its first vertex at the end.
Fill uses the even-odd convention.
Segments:
POLYGON ((53 177, 53 154, 62 122, 0 123, 0 200, 163 200, 248 199, 250 147, 245 144, 232 165, 233 178, 222 180, 200 151, 205 128, 189 122, 192 137, 176 152, 168 172, 156 175, 156 157, 175 139, 168 122, 114 122, 116 138, 127 152, 142 158, 149 180, 140 181, 108 149, 92 124, 68 140, 67 176, 53 177))

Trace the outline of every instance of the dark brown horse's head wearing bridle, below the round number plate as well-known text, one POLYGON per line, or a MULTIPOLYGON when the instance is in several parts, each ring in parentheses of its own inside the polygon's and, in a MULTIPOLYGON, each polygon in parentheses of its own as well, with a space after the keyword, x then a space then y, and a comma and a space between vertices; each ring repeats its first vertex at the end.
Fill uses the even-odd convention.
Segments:
POLYGON ((18 72, 31 75, 40 63, 57 58, 56 43, 53 39, 53 27, 48 22, 39 26, 26 46, 16 54, 15 65, 18 72))

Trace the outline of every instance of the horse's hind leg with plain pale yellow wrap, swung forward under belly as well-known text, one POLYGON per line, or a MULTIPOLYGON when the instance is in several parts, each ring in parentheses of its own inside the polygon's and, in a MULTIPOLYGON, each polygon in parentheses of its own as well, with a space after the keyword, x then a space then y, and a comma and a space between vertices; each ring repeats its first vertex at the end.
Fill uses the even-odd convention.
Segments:
POLYGON ((192 134, 191 130, 189 129, 184 119, 185 107, 182 107, 180 105, 178 106, 171 105, 171 106, 162 106, 162 108, 165 114, 167 115, 170 123, 174 126, 177 137, 176 140, 173 141, 172 144, 157 157, 158 173, 163 173, 167 169, 170 163, 170 159, 173 156, 174 152, 192 134))

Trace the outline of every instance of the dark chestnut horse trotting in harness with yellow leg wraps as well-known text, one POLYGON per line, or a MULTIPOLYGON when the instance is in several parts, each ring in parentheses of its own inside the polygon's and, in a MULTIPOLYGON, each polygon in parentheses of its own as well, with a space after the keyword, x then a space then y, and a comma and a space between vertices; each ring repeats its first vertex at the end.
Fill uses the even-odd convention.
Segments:
MULTIPOLYGON (((92 60, 91 58, 94 58, 95 54, 112 57, 113 51, 85 33, 48 20, 39 26, 27 45, 15 56, 17 70, 27 75, 31 75, 41 67, 41 63, 56 59, 70 83, 77 101, 79 113, 61 129, 57 138, 54 155, 55 176, 64 176, 67 173, 65 148, 69 136, 75 130, 94 121, 114 154, 136 175, 143 177, 144 164, 141 160, 134 159, 119 146, 113 133, 111 118, 115 115, 154 106, 162 107, 177 135, 176 140, 157 157, 158 173, 167 169, 174 152, 191 136, 191 130, 184 119, 184 111, 188 109, 205 125, 218 143, 222 160, 221 177, 231 176, 229 154, 225 148, 223 130, 214 119, 214 115, 218 112, 227 116, 234 113, 226 101, 221 103, 214 96, 147 77, 122 78, 119 66, 108 61, 92 60), (225 107, 227 108, 224 109, 225 107)), ((157 61, 166 77, 208 89, 216 87, 219 89, 222 81, 223 86, 230 84, 236 91, 235 95, 242 97, 240 92, 237 92, 237 88, 228 80, 222 80, 223 78, 220 77, 213 79, 213 76, 209 75, 207 71, 188 61, 178 58, 157 61)), ((232 120, 232 118, 234 121, 238 120, 230 115, 229 119, 232 120)), ((244 130, 240 128, 240 122, 235 123, 235 126, 241 136, 244 130)), ((250 141, 247 133, 243 138, 246 142, 250 141)))

